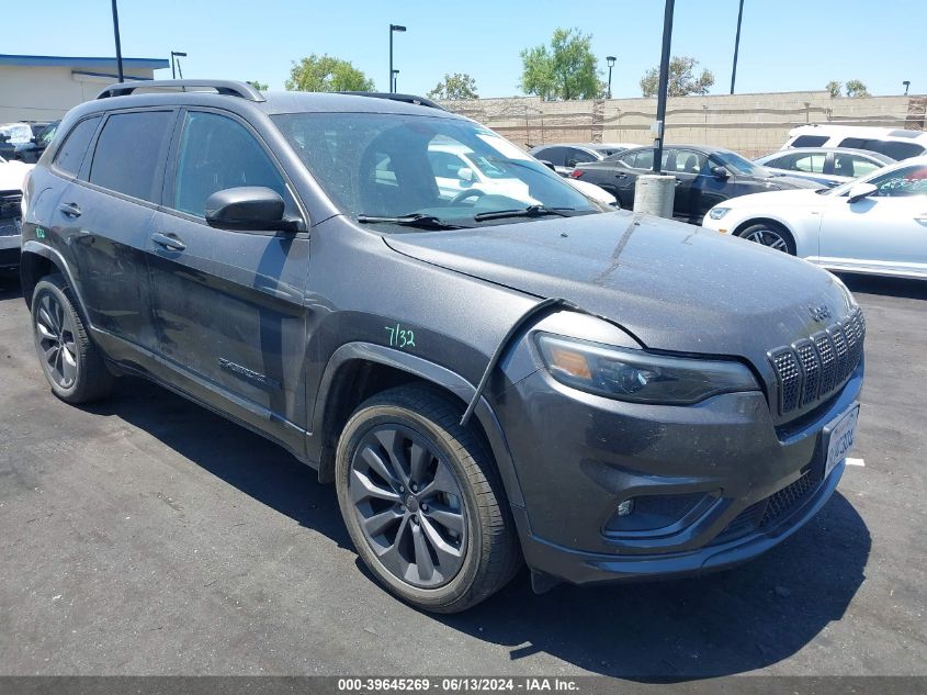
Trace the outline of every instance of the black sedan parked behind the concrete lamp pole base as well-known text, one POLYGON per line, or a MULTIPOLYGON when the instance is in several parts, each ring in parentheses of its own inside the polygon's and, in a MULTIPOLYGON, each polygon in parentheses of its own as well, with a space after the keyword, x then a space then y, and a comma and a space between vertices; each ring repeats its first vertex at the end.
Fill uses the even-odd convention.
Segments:
MULTIPOLYGON (((636 147, 602 161, 584 164, 570 175, 612 193, 623 209, 634 206, 637 177, 653 172, 654 148, 636 147)), ((692 223, 714 205, 758 191, 821 188, 806 179, 773 173, 741 155, 719 147, 672 145, 663 150, 664 173, 676 177, 672 214, 692 223)))

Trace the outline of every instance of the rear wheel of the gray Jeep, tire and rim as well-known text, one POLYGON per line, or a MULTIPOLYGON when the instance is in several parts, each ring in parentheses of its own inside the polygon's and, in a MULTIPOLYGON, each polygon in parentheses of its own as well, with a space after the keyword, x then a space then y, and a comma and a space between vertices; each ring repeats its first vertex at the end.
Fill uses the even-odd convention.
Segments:
POLYGON ((60 274, 39 280, 30 304, 32 332, 52 392, 66 403, 88 403, 110 394, 113 375, 90 340, 71 296, 60 274))

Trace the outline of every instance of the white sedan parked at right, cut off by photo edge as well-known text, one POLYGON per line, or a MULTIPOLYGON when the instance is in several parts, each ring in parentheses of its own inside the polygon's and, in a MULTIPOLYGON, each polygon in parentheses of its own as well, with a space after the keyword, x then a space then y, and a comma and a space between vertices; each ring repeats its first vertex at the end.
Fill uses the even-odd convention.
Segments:
POLYGON ((830 270, 927 279, 927 156, 837 188, 732 198, 702 226, 830 270))

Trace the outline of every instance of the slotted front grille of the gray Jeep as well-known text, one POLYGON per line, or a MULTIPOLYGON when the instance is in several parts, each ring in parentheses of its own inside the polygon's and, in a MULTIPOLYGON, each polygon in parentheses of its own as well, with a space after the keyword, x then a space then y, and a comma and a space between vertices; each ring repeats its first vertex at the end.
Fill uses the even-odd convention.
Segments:
POLYGON ((769 351, 780 415, 821 401, 844 385, 862 358, 866 318, 856 310, 811 338, 769 351))

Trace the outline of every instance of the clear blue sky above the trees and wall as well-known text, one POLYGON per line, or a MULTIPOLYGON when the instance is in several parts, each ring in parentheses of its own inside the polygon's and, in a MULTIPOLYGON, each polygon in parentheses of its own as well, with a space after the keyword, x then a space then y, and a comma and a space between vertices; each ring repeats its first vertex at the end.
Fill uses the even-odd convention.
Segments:
MULTIPOLYGON (((37 32, 5 32, 2 53, 113 55, 108 0, 44 0, 37 32)), ((618 56, 614 97, 638 97, 659 61, 662 0, 120 0, 123 54, 185 51, 185 77, 258 79, 283 89, 292 60, 328 53, 387 87, 388 25, 396 34, 400 91, 425 93, 444 72, 470 72, 482 97, 519 93, 522 48, 557 26, 592 34, 600 57, 618 56)), ((677 0, 672 52, 715 75, 727 93, 737 0, 677 0)), ((927 0, 746 0, 737 91, 823 89, 860 79, 874 94, 927 92, 927 0)), ((170 77, 161 70, 158 77, 170 77)))

